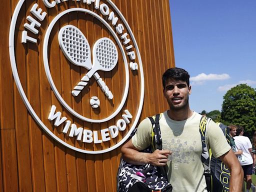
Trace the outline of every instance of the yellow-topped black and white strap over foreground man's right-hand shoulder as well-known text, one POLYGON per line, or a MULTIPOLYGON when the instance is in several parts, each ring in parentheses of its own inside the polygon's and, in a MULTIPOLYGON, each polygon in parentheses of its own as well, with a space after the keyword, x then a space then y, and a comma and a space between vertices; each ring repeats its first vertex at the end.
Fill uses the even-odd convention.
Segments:
POLYGON ((210 118, 206 116, 202 116, 199 123, 199 132, 201 134, 202 141, 202 153, 201 153, 201 161, 204 166, 204 171, 210 171, 210 160, 209 160, 209 151, 207 146, 207 127, 210 118))

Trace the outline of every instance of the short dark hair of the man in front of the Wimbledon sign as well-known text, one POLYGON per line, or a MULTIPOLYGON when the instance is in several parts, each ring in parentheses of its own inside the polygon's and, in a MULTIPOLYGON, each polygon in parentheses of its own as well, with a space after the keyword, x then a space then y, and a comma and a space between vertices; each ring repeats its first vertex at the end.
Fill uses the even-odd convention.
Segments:
POLYGON ((186 82, 187 86, 189 86, 189 74, 183 68, 178 68, 178 67, 168 68, 162 74, 163 88, 165 88, 165 83, 166 83, 166 80, 168 80, 168 79, 182 80, 182 81, 186 82))

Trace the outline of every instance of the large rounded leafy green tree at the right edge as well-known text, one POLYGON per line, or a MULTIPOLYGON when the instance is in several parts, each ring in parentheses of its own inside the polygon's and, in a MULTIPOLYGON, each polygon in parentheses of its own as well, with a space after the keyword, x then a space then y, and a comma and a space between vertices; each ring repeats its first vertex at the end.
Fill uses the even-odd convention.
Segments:
POLYGON ((244 127, 251 135, 256 129, 256 91, 246 84, 238 84, 223 96, 221 119, 225 124, 244 127))

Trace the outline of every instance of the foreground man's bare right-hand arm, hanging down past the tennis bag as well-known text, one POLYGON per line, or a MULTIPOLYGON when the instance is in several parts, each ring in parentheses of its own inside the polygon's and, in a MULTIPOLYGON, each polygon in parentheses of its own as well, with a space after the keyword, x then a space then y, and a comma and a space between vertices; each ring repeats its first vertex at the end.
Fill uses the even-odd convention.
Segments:
POLYGON ((243 170, 233 151, 230 149, 219 157, 230 170, 229 192, 242 190, 243 170))

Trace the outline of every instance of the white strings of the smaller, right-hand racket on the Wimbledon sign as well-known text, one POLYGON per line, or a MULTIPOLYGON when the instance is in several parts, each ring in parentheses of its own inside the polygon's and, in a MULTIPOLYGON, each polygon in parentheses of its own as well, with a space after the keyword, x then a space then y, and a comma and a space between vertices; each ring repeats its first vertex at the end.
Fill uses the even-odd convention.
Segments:
POLYGON ((117 60, 115 45, 108 39, 100 41, 96 48, 96 58, 103 68, 111 68, 117 60))

